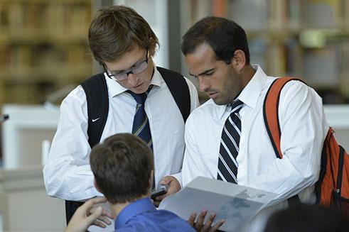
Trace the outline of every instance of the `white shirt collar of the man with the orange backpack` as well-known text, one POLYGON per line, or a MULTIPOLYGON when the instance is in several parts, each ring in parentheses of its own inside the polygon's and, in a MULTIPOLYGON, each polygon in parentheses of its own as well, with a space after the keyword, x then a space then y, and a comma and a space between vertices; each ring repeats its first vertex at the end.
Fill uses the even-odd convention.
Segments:
MULTIPOLYGON (((264 73, 262 68, 259 67, 259 65, 252 65, 252 67, 256 72, 254 73, 252 79, 247 83, 245 88, 242 89, 242 92, 239 94, 239 96, 237 96, 237 99, 242 101, 246 106, 249 106, 250 108, 255 109, 257 106, 259 95, 261 94, 263 86, 267 81, 267 75, 264 73)), ((222 118, 225 111, 230 110, 227 108, 228 108, 227 105, 224 105, 224 106, 220 106, 217 109, 219 118, 222 118)))

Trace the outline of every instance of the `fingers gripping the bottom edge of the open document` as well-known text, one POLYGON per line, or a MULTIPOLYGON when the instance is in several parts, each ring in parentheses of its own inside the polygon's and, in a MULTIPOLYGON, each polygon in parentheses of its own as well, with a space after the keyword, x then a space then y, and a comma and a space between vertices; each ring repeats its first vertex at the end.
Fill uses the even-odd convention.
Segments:
POLYGON ((218 221, 218 223, 215 223, 215 225, 211 226, 213 223, 213 220, 215 220, 215 213, 210 214, 210 217, 208 218, 208 221, 206 221, 205 224, 203 224, 203 222, 205 221, 205 216, 208 213, 207 210, 203 210, 201 211, 201 214, 198 216, 198 220, 196 220, 196 213, 192 213, 190 214, 190 217, 188 219, 188 223, 190 224, 190 226, 193 226, 193 228, 195 228, 195 231, 198 232, 213 232, 213 231, 217 231, 218 228, 220 228, 220 226, 222 226, 222 224, 225 222, 224 220, 220 220, 218 221))

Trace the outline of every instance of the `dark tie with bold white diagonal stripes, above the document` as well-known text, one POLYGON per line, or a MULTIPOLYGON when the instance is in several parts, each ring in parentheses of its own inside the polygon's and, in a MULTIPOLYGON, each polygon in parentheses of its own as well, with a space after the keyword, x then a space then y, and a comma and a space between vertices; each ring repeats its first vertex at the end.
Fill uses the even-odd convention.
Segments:
POLYGON ((225 121, 220 139, 220 154, 218 159, 217 179, 225 182, 237 184, 237 153, 239 153, 239 143, 241 134, 241 119, 239 111, 243 102, 240 100, 233 101, 230 106, 232 113, 225 121))

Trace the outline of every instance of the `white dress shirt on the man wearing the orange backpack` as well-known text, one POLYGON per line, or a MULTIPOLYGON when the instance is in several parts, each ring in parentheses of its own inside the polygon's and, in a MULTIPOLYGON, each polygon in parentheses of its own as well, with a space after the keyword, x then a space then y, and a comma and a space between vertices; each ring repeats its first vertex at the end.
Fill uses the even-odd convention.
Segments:
MULTIPOLYGON (((295 194, 301 201, 311 203, 315 200, 313 184, 318 179, 321 149, 328 131, 322 99, 301 82, 291 81, 284 86, 279 101, 283 158, 276 158, 263 119, 264 97, 275 77, 268 77, 258 65, 253 67, 254 76, 237 97, 244 103, 240 110, 237 183, 276 193, 271 204, 274 209, 287 206, 285 199, 295 194)), ((186 122, 183 186, 198 176, 217 179, 222 128, 230 110, 210 99, 190 114, 186 122)))

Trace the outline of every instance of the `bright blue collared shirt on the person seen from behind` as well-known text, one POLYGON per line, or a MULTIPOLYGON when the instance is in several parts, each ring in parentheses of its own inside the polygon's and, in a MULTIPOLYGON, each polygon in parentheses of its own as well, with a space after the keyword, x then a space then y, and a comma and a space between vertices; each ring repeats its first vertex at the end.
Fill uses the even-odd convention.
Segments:
POLYGON ((167 210, 157 210, 148 197, 127 205, 115 219, 115 231, 194 231, 167 210))

